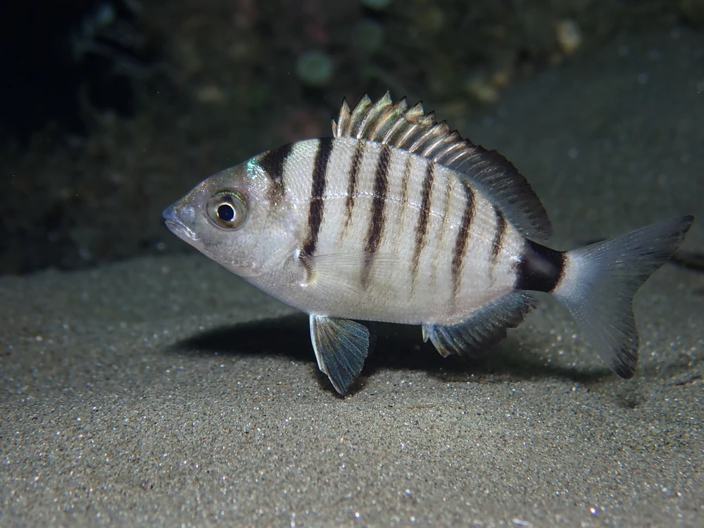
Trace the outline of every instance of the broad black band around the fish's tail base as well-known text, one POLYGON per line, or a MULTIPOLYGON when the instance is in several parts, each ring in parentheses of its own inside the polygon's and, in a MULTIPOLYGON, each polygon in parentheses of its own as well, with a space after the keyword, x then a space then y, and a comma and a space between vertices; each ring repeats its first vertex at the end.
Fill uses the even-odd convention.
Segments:
POLYGON ((516 289, 553 291, 565 272, 565 253, 526 240, 516 266, 516 289))

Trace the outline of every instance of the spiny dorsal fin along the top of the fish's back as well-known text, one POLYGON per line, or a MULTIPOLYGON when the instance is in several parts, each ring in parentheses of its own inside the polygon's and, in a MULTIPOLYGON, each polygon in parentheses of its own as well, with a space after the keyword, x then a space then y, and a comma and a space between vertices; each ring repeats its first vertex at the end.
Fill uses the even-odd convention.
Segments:
POLYGON ((487 151, 463 139, 446 122, 436 122, 421 103, 409 108, 404 97, 398 103, 386 92, 376 103, 367 94, 352 110, 342 101, 340 115, 332 120, 334 137, 367 139, 395 146, 463 174, 501 209, 525 236, 546 239, 552 234, 548 213, 528 180, 496 151, 487 151))

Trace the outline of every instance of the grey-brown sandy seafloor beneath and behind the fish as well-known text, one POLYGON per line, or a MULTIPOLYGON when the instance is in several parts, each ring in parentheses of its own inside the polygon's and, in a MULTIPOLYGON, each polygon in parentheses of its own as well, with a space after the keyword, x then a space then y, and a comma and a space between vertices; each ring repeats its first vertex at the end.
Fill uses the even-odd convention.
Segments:
MULTIPOLYGON (((701 35, 621 37, 451 124, 564 249, 704 212, 703 63, 701 35)), ((305 316, 205 257, 5 277, 0 524, 704 526, 704 275, 666 265, 636 317, 629 382, 546 301, 475 362, 381 326, 340 398, 305 316)))

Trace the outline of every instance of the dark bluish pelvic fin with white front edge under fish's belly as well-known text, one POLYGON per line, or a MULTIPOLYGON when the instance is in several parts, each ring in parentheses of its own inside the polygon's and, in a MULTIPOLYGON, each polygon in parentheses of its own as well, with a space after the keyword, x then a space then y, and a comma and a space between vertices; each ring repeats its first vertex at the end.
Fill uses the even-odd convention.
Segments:
POLYGON ((364 366, 372 337, 365 325, 310 314, 310 339, 318 368, 339 394, 345 394, 364 366))

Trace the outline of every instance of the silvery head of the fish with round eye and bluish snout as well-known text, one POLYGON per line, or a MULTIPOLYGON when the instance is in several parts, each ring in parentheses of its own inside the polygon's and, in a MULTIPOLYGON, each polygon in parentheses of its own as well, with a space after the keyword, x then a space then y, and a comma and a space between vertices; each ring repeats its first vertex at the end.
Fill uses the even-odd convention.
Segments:
POLYGON ((282 185, 253 160, 206 178, 163 217, 173 234, 241 277, 278 268, 296 244, 282 185))

